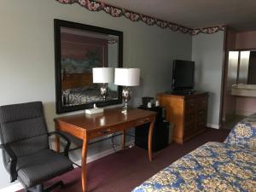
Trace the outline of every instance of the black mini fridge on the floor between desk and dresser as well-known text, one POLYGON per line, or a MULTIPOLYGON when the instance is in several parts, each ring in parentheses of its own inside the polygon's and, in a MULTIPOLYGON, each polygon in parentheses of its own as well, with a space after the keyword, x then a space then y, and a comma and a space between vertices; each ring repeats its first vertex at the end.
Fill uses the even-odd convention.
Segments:
MULTIPOLYGON (((169 123, 164 118, 163 108, 139 108, 157 113, 152 137, 152 150, 156 152, 162 148, 166 148, 169 141, 169 123)), ((139 125, 135 128, 135 145, 140 148, 148 149, 148 130, 149 124, 139 125)))

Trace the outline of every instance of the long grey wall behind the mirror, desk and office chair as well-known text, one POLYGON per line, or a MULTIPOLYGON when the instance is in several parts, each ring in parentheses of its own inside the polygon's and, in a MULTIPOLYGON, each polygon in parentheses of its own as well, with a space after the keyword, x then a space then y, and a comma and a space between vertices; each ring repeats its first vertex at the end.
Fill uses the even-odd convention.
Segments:
MULTIPOLYGON (((192 38, 188 34, 90 12, 78 4, 64 5, 55 0, 1 1, 0 105, 43 101, 49 131, 54 130, 53 119, 58 116, 55 113, 55 18, 124 32, 124 65, 142 71, 142 84, 133 89, 131 103, 135 106, 140 104, 142 96, 155 96, 171 89, 174 59, 191 59, 192 38)), ((110 148, 109 141, 96 143, 90 146, 89 156, 110 148)), ((74 160, 79 160, 79 153, 72 154, 74 160)), ((2 189, 11 184, 2 154, 0 172, 2 189)))

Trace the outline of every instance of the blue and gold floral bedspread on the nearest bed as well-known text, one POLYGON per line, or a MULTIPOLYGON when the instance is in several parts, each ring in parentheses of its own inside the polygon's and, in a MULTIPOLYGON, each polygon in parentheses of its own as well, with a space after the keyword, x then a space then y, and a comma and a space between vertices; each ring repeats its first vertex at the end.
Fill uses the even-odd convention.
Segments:
POLYGON ((206 143, 167 166, 132 192, 256 192, 256 151, 206 143))

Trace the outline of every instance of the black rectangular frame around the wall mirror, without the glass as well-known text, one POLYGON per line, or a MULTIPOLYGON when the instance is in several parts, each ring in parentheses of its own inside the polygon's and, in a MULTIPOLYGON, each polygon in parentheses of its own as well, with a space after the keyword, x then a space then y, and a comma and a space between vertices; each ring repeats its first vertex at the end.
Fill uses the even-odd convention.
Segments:
MULTIPOLYGON (((98 26, 89 26, 81 23, 75 23, 67 20, 54 20, 55 29, 55 108, 56 113, 67 113, 86 108, 93 108, 93 104, 96 103, 97 107, 104 107, 109 105, 115 105, 122 103, 122 87, 118 86, 118 99, 102 101, 102 102, 91 102, 87 104, 81 104, 76 106, 65 107, 61 101, 61 27, 68 27, 73 29, 79 29, 89 32, 97 32, 102 34, 114 35, 119 37, 118 46, 118 66, 123 67, 123 32, 115 31, 112 29, 102 28, 98 26)), ((100 94, 100 92, 99 92, 100 94)))

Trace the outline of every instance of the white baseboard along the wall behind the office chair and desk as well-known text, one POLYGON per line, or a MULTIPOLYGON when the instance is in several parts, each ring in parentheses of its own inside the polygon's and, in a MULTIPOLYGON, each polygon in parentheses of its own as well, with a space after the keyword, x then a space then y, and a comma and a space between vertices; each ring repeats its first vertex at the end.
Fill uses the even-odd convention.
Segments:
MULTIPOLYGON (((126 143, 126 146, 131 146, 131 147, 134 146, 133 141, 126 143)), ((121 146, 118 146, 115 149, 116 150, 113 150, 113 148, 110 148, 108 150, 102 151, 101 153, 91 155, 90 157, 87 158, 87 163, 90 163, 94 160, 99 160, 102 157, 108 156, 109 154, 113 154, 116 151, 121 150, 121 146)), ((78 165, 81 165, 81 160, 77 160, 77 161, 75 161, 75 163, 78 165)), ((6 188, 0 189, 0 192, 14 192, 14 191, 17 191, 20 189, 23 189, 23 186, 21 185, 21 183, 15 183, 15 184, 11 184, 10 186, 8 186, 6 188)))

